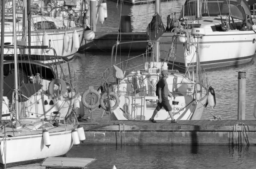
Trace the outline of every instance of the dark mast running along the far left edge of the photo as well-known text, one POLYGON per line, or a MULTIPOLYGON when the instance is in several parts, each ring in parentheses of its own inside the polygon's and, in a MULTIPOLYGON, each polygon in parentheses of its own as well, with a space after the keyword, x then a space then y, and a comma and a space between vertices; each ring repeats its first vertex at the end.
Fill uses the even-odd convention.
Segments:
POLYGON ((1 51, 0 51, 0 120, 3 112, 3 47, 4 47, 4 19, 5 19, 5 1, 2 0, 2 18, 1 18, 1 51))

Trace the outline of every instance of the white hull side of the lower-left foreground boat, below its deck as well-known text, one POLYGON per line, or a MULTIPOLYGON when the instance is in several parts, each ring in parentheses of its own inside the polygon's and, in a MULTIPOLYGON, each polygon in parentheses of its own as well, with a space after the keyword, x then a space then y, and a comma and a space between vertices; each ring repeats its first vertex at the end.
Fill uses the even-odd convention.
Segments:
MULTIPOLYGON (((19 135, 19 134, 16 134, 19 135)), ((49 133, 49 148, 42 134, 0 138, 1 164, 17 164, 66 154, 73 146, 71 130, 49 133)))

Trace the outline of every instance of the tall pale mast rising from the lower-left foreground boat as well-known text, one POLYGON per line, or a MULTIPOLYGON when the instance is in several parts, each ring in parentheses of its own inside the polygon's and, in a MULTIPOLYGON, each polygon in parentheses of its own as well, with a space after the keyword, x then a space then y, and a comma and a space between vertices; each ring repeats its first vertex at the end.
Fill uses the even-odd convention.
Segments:
POLYGON ((15 70, 15 118, 16 118, 16 127, 19 124, 19 115, 18 115, 18 66, 17 66, 17 44, 16 44, 16 18, 15 18, 15 9, 16 9, 16 1, 14 0, 12 3, 12 19, 13 19, 13 48, 14 48, 14 70, 15 70))

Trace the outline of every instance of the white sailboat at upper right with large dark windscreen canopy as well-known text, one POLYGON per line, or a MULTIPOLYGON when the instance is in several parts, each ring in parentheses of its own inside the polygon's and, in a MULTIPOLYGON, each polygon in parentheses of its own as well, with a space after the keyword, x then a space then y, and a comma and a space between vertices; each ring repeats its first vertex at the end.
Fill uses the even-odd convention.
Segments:
POLYGON ((192 28, 205 31, 198 45, 204 69, 248 63, 254 56, 256 26, 246 0, 186 0, 179 16, 169 14, 160 37, 161 59, 169 67, 185 72, 196 65, 192 28))

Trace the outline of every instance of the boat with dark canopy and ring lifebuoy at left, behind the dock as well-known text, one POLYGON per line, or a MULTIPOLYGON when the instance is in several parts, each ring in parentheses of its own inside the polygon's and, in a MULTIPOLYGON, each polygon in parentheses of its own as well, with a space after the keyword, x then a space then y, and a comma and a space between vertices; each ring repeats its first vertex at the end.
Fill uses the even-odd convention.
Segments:
MULTIPOLYGON (((13 48, 13 45, 12 47, 13 48)), ((26 47, 33 48, 33 46, 26 47)), ((25 49, 25 48, 22 48, 25 49)), ((54 48, 46 48, 55 51, 54 48)), ((55 52, 54 52, 55 53, 55 52)), ((72 75, 67 62, 44 64, 31 57, 19 54, 18 69, 18 104, 20 116, 24 118, 61 119, 73 115, 84 115, 81 95, 76 86, 76 77, 72 75), (64 74, 66 72, 67 74, 64 74), (80 106, 81 105, 81 106, 80 106), (74 108, 70 107, 74 106, 74 108), (80 111, 81 110, 81 111, 80 111), (80 113, 81 112, 81 113, 80 113), (58 117, 57 117, 58 116, 58 117)), ((14 108, 13 91, 15 88, 15 73, 13 55, 4 55, 3 62, 3 118, 11 119, 14 108), (6 116, 7 115, 7 116, 6 116), (9 116, 8 116, 9 115, 9 116)), ((58 56, 52 56, 58 59, 58 56)), ((62 57, 64 58, 64 57, 62 57)))

